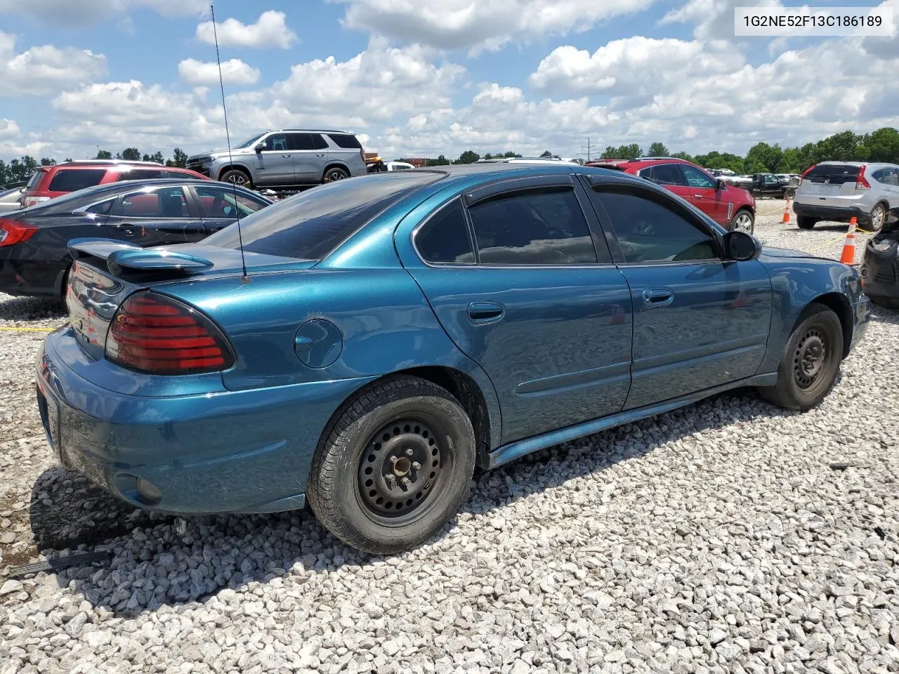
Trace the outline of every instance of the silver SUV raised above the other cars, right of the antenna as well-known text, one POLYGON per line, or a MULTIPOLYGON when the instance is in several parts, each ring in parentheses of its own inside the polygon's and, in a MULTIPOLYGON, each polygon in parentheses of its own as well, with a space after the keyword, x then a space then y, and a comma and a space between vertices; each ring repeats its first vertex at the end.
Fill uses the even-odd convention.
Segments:
POLYGON ((187 158, 187 167, 212 180, 245 187, 300 187, 365 175, 365 153, 348 131, 268 130, 227 150, 187 158))

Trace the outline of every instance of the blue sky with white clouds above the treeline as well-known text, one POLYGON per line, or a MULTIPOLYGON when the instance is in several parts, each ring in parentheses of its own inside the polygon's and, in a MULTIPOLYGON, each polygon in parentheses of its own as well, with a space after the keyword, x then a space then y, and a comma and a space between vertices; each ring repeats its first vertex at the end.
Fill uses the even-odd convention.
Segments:
MULTIPOLYGON (((734 6, 781 4, 217 0, 228 130, 348 129, 387 158, 586 158, 588 142, 744 154, 899 127, 899 37, 734 37, 734 6)), ((0 0, 0 158, 224 147, 209 9, 0 0)))

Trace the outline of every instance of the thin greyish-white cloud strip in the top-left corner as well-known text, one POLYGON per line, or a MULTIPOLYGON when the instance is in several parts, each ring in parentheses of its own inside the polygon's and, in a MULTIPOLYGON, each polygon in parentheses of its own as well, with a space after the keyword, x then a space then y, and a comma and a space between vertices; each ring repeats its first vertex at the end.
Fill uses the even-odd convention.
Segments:
POLYGON ((163 16, 205 16, 207 0, 0 0, 0 14, 31 16, 62 25, 101 22, 136 7, 163 16))

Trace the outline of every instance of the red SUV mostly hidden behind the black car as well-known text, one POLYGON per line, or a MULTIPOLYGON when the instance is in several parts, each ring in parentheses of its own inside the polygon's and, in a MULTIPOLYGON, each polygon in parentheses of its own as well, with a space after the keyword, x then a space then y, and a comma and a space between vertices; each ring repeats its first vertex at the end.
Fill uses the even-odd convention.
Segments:
POLYGON ((193 178, 198 181, 211 180, 196 171, 163 166, 156 162, 132 162, 116 159, 84 159, 63 162, 52 166, 39 166, 31 174, 19 203, 22 208, 30 208, 41 201, 61 197, 63 194, 84 190, 85 187, 103 185, 108 182, 153 180, 155 178, 193 178))

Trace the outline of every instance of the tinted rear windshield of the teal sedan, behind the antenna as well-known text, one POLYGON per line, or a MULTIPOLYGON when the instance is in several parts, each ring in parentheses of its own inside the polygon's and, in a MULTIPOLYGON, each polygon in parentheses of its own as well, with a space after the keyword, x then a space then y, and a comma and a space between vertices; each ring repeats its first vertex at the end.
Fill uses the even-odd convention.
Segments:
MULTIPOLYGON (((244 250, 321 260, 382 210, 439 178, 425 172, 379 173, 300 192, 240 221, 244 250)), ((237 234, 236 226, 228 226, 203 243, 239 248, 237 234)))

